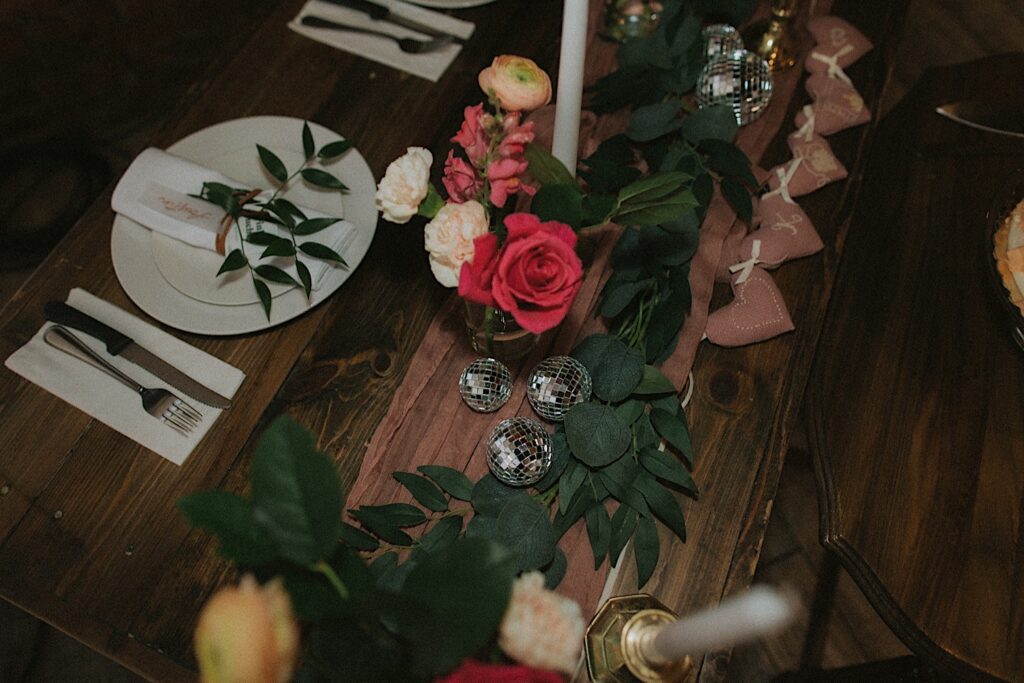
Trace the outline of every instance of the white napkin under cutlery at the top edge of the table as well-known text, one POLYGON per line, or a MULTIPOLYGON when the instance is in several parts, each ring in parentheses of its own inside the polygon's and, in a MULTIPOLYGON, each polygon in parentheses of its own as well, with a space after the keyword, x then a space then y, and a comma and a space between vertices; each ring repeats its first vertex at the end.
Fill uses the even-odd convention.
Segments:
MULTIPOLYGON (((475 26, 471 22, 463 22, 447 14, 417 7, 400 0, 374 0, 374 2, 387 6, 394 14, 426 24, 427 26, 436 28, 438 31, 450 33, 459 38, 469 38, 473 35, 473 30, 475 29, 475 26)), ((307 38, 312 38, 327 45, 337 47, 340 50, 379 61, 388 67, 393 67, 413 76, 425 78, 428 81, 437 82, 449 66, 459 55, 460 50, 462 50, 461 45, 452 43, 430 52, 409 54, 408 52, 402 52, 398 48, 398 44, 393 40, 387 40, 386 38, 302 26, 299 22, 306 14, 321 16, 332 22, 347 24, 357 28, 381 31, 391 34, 396 38, 426 39, 428 38, 427 36, 387 22, 375 22, 364 12, 348 9, 347 7, 339 7, 327 2, 319 2, 318 0, 309 0, 288 25, 292 31, 300 33, 307 38)))

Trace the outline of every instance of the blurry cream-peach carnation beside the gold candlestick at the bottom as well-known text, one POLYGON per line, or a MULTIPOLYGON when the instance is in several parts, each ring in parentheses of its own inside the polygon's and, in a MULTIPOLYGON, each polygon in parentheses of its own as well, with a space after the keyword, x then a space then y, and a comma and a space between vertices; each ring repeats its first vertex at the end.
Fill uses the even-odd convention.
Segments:
POLYGON ((498 644, 519 664, 571 674, 584 628, 580 605, 544 588, 540 571, 528 571, 512 585, 498 644))

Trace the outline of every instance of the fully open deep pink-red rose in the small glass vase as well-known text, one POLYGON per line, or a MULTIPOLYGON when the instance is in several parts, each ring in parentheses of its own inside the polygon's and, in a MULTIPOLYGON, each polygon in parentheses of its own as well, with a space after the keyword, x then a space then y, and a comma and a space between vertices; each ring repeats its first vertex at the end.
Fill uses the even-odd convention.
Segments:
POLYGON ((562 322, 583 283, 575 232, 564 223, 541 222, 534 214, 505 219, 508 238, 477 238, 473 260, 464 263, 459 294, 512 314, 524 330, 541 334, 562 322))

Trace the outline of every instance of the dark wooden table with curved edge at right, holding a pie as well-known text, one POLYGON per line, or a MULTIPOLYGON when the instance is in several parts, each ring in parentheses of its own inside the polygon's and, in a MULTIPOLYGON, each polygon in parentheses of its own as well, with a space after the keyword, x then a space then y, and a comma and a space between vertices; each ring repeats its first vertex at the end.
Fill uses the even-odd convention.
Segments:
POLYGON ((1024 355, 986 221, 1024 140, 934 111, 1024 108, 1022 69, 930 72, 880 128, 808 392, 823 543, 957 678, 1024 679, 1024 355))

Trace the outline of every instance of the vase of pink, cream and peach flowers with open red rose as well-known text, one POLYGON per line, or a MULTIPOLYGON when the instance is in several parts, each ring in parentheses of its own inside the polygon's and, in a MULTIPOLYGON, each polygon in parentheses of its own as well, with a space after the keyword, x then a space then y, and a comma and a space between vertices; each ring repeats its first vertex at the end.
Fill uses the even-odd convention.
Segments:
POLYGON ((392 162, 377 191, 384 218, 430 218, 424 245, 430 268, 467 302, 470 340, 479 352, 518 356, 536 335, 557 326, 583 280, 577 234, 557 220, 516 212, 538 191, 524 116, 551 100, 551 80, 532 60, 503 55, 479 75, 487 102, 467 106, 457 148, 444 160, 442 199, 429 182, 432 156, 410 147, 392 162))

